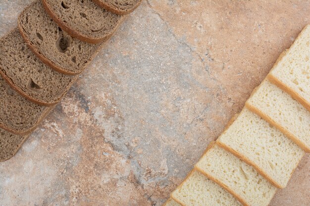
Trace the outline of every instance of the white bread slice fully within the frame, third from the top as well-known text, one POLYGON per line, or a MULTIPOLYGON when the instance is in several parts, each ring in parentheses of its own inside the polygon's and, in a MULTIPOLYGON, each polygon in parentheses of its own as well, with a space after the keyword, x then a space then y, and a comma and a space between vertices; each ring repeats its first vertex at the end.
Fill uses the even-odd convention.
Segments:
POLYGON ((252 165, 278 188, 286 187, 305 152, 281 131, 243 108, 216 142, 252 165))

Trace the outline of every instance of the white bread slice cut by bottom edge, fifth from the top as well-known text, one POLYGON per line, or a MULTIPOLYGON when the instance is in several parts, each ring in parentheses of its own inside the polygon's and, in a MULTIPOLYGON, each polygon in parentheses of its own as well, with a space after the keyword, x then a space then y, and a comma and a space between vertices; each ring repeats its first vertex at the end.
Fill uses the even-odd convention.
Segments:
POLYGON ((241 206, 231 194, 195 170, 171 193, 171 198, 181 206, 241 206))

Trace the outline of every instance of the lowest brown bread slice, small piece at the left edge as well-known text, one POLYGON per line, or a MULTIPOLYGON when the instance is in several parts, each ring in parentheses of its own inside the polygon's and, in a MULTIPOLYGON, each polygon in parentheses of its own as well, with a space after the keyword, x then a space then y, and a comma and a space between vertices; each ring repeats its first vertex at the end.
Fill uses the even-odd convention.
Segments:
POLYGON ((0 128, 0 162, 13 157, 29 135, 16 135, 0 128))

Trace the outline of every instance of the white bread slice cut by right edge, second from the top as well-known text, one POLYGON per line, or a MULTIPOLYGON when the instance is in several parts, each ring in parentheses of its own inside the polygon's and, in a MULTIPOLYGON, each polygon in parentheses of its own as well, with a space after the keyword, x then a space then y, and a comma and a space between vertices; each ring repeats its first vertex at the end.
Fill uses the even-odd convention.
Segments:
POLYGON ((310 152, 310 112, 276 85, 264 80, 246 106, 310 152))

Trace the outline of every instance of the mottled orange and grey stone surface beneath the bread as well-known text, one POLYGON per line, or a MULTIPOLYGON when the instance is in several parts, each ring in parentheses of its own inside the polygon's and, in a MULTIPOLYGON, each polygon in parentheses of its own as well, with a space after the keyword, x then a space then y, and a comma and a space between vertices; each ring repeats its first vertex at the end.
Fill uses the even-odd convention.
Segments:
MULTIPOLYGON (((0 0, 0 36, 31 1, 0 0)), ((0 163, 0 206, 160 206, 309 13, 309 0, 144 0, 0 163)), ((310 155, 270 203, 284 205, 310 205, 310 155)))

